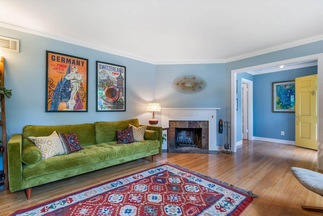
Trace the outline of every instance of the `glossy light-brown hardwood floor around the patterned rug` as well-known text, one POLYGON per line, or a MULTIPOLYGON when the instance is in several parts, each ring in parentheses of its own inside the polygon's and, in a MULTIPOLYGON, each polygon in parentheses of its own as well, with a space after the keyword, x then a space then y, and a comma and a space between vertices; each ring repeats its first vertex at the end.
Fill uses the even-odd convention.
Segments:
POLYGON ((317 152, 293 145, 244 141, 233 154, 175 154, 156 155, 90 172, 88 174, 49 183, 32 189, 26 199, 25 191, 0 191, 0 215, 46 202, 69 193, 104 183, 145 168, 175 163, 201 174, 228 182, 258 194, 241 215, 323 215, 307 211, 301 205, 323 206, 323 197, 304 188, 292 175, 290 167, 317 170, 317 152))

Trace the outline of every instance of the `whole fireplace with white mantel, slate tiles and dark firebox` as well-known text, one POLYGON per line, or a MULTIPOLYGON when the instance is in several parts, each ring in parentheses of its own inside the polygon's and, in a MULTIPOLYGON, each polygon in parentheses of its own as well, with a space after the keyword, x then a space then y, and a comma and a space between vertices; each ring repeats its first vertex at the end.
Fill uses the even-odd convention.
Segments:
POLYGON ((168 128, 168 148, 196 147, 203 150, 217 151, 217 110, 220 108, 161 108, 161 126, 168 128), (176 132, 176 129, 182 132, 176 132), (184 129, 185 128, 185 129, 184 129), (184 132, 183 132, 184 131, 184 132), (197 139, 193 144, 178 141, 197 139), (195 138, 194 138, 195 137, 195 138), (176 140, 175 140, 176 138, 176 140), (184 139, 184 138, 183 138, 184 139), (183 143, 178 145, 178 143, 183 143), (191 145, 191 146, 189 146, 191 145))

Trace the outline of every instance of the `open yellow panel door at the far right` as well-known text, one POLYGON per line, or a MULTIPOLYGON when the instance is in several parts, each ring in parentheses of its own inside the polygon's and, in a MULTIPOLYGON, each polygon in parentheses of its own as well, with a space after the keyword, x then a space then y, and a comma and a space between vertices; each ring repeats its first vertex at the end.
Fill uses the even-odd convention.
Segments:
POLYGON ((295 145, 317 150, 317 74, 295 78, 295 145))

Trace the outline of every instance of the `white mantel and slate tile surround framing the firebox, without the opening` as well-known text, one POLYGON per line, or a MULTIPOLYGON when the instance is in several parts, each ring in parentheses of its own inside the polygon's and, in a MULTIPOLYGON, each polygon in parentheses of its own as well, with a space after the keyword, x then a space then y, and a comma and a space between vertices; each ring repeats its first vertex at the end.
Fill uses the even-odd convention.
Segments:
POLYGON ((202 128, 202 149, 217 149, 217 110, 220 108, 161 108, 161 126, 169 128, 169 149, 175 147, 175 128, 202 128))

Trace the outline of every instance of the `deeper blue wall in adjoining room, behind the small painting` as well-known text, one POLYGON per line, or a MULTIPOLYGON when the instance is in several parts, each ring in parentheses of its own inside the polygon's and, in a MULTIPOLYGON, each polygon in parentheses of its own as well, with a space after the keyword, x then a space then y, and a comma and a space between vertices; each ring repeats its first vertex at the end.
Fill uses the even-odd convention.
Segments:
POLYGON ((253 77, 253 136, 295 141, 295 113, 272 112, 272 82, 317 73, 317 66, 265 73, 253 77), (281 131, 285 136, 281 136, 281 131))

